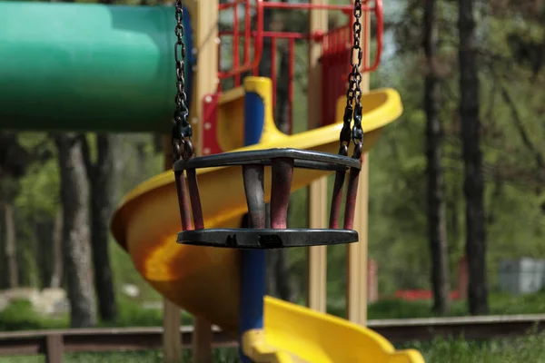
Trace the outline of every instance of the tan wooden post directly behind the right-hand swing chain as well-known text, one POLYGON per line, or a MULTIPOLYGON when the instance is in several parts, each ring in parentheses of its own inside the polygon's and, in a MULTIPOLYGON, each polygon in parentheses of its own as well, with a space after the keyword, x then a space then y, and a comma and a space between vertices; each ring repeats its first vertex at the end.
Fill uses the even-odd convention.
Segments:
MULTIPOLYGON (((369 44, 371 17, 368 12, 366 29, 362 29, 362 44, 369 44)), ((363 17, 362 16, 362 17, 363 17)), ((362 22, 363 19, 360 19, 362 22)), ((352 17, 353 22, 353 17, 352 17)), ((369 48, 369 47, 368 47, 369 48)), ((369 64, 369 53, 363 54, 363 61, 369 64)), ((362 74, 362 93, 369 92, 369 73, 362 74)), ((347 296, 346 310, 348 319, 365 325, 367 322, 367 216, 369 208, 369 154, 363 157, 362 173, 358 187, 358 200, 354 214, 354 230, 360 234, 358 243, 350 243, 347 248, 347 296)))

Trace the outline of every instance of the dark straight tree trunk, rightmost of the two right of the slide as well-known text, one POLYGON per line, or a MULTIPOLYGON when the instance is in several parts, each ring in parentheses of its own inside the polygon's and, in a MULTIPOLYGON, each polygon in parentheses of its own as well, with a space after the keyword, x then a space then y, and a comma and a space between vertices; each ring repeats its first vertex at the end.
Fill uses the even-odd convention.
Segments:
POLYGON ((459 0, 460 34, 460 115, 466 199, 466 253, 470 283, 468 289, 471 314, 488 312, 486 279, 486 231, 484 216, 484 182, 482 177, 481 120, 479 117, 479 77, 474 0, 459 0))

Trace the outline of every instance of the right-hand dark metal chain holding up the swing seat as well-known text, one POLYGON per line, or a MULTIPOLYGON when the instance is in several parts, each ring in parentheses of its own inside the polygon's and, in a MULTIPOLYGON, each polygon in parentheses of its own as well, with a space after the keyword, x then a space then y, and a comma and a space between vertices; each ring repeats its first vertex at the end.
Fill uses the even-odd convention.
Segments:
POLYGON ((348 89, 346 91, 346 107, 344 108, 344 117, 343 125, 340 135, 341 148, 339 153, 347 156, 348 155, 348 145, 351 140, 354 142, 354 153, 353 158, 360 159, 362 156, 362 142, 363 142, 363 130, 362 130, 362 73, 360 69, 362 68, 362 24, 360 23, 360 18, 362 17, 362 0, 354 1, 354 23, 352 25, 353 30, 353 43, 352 43, 352 52, 351 52, 351 64, 352 70, 348 75, 348 89), (354 52, 357 55, 354 56, 354 52), (354 61, 354 58, 357 58, 357 62, 354 61), (355 106, 352 109, 352 103, 355 100, 355 106), (350 124, 352 122, 352 117, 354 120, 354 125, 352 127, 352 132, 350 124))

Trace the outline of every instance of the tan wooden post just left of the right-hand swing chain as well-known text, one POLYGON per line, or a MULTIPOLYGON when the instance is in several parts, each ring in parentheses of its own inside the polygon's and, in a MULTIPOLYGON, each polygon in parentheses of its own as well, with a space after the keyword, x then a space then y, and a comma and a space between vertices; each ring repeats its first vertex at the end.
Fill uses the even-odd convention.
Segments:
MULTIPOLYGON (((313 5, 327 5, 327 0, 311 0, 313 5)), ((311 10, 310 34, 327 30, 327 12, 311 10)), ((320 103, 322 90, 322 67, 320 56, 322 46, 312 39, 309 41, 309 71, 308 71, 308 127, 320 126, 320 103)), ((312 182, 309 195, 309 227, 325 228, 327 223, 327 177, 312 182)), ((325 312, 327 308, 327 248, 316 246, 309 248, 308 253, 308 306, 311 309, 325 312)))

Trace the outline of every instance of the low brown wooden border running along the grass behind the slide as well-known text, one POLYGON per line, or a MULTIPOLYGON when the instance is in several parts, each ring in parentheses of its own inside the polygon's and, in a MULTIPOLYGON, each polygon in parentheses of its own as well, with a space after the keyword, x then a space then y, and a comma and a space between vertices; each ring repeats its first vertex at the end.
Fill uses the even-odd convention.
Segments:
MULTIPOLYGON (((370 320, 370 329, 392 343, 436 337, 468 339, 513 338, 545 330, 545 314, 439 319, 370 320)), ((193 327, 180 328, 183 348, 191 348, 193 327)), ((29 330, 0 333, 0 357, 45 355, 47 363, 60 363, 64 353, 145 350, 162 347, 162 328, 29 330)), ((238 342, 213 328, 213 347, 237 347, 238 342)))

